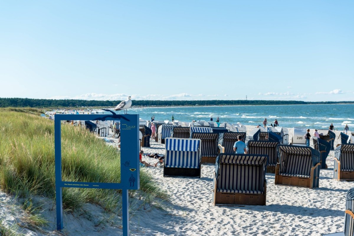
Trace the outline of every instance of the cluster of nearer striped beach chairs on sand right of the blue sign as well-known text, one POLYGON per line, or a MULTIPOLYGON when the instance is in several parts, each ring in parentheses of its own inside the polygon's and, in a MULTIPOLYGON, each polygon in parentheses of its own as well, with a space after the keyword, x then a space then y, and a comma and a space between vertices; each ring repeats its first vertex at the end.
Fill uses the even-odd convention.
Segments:
MULTIPOLYGON (((275 173, 275 184, 318 188, 320 169, 326 168, 331 148, 320 138, 313 139, 315 149, 282 144, 282 137, 269 131, 267 140, 259 140, 259 132, 250 134, 247 154, 235 154, 233 144, 237 136, 245 138, 245 132, 177 126, 170 135, 164 140, 164 176, 200 178, 202 164, 214 164, 215 205, 265 205, 266 172, 275 173)), ((338 146, 335 157, 333 178, 354 180, 354 144, 338 146)))

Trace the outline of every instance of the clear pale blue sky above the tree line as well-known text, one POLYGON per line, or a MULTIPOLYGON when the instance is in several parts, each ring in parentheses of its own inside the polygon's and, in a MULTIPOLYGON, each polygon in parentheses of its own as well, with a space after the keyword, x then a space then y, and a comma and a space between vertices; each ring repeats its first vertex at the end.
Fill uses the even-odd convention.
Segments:
POLYGON ((354 100, 354 1, 2 1, 0 97, 354 100))

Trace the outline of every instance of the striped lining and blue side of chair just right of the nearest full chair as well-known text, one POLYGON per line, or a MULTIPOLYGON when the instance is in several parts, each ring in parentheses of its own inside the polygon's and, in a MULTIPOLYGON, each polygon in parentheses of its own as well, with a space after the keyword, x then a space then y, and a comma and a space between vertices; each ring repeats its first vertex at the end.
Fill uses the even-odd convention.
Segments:
MULTIPOLYGON (((304 146, 278 145, 279 174, 285 176, 310 176, 311 168, 320 163, 320 152, 304 146)), ((314 173, 312 187, 318 187, 319 166, 314 173)), ((304 177, 305 178, 305 177, 304 177)), ((306 177, 309 178, 309 177, 306 177)))

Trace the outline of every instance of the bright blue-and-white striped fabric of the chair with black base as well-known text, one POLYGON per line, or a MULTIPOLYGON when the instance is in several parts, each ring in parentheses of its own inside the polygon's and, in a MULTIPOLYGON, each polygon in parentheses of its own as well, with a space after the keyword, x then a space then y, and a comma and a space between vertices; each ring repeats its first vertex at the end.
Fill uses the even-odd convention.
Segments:
POLYGON ((165 167, 200 168, 200 139, 165 139, 165 167))

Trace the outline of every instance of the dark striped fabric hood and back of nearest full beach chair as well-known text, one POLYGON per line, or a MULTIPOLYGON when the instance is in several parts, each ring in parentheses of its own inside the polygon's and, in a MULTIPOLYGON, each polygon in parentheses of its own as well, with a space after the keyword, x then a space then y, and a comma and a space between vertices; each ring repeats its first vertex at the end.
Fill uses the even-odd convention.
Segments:
POLYGON ((225 154, 216 160, 218 192, 263 194, 265 180, 264 155, 225 154))

